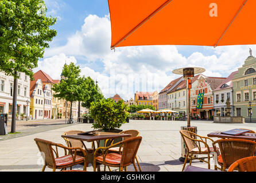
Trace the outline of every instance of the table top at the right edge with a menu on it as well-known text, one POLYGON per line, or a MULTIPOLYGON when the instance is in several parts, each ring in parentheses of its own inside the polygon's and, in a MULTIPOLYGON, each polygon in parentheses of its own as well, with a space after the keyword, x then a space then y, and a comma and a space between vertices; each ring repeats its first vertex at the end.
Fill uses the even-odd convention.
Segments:
POLYGON ((218 138, 238 138, 238 139, 244 139, 244 140, 252 140, 255 141, 256 140, 256 133, 244 133, 244 134, 240 134, 238 136, 231 136, 231 135, 227 135, 227 134, 222 134, 222 131, 218 131, 218 132, 212 132, 207 134, 208 137, 218 137, 218 138))

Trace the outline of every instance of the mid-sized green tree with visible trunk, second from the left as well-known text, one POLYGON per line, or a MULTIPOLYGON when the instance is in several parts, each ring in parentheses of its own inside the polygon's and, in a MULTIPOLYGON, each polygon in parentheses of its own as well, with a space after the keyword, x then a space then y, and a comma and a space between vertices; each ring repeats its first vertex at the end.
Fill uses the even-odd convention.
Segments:
POLYGON ((79 66, 73 62, 69 65, 65 64, 62 71, 63 78, 52 87, 52 90, 55 91, 54 97, 71 102, 69 123, 72 118, 72 103, 84 100, 88 88, 87 79, 80 77, 80 71, 79 66))

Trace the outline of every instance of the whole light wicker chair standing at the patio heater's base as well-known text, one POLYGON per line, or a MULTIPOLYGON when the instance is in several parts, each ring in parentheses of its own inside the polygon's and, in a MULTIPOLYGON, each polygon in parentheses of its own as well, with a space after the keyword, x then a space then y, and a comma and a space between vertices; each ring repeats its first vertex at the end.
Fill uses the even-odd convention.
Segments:
POLYGON ((184 161, 182 172, 187 164, 189 156, 190 156, 189 165, 191 165, 192 160, 200 160, 200 161, 206 162, 208 164, 208 169, 210 169, 211 168, 210 158, 213 157, 211 156, 211 153, 216 152, 217 154, 219 154, 219 151, 218 149, 215 150, 214 148, 209 147, 207 144, 207 140, 209 140, 210 142, 214 142, 214 140, 212 140, 209 137, 199 136, 196 133, 189 132, 188 130, 180 130, 180 134, 187 147, 187 154, 184 161), (196 139, 197 137, 200 140, 197 140, 196 139), (207 155, 207 157, 193 157, 193 155, 204 155, 204 154, 207 155), (207 158, 208 161, 205 161, 204 158, 207 158))

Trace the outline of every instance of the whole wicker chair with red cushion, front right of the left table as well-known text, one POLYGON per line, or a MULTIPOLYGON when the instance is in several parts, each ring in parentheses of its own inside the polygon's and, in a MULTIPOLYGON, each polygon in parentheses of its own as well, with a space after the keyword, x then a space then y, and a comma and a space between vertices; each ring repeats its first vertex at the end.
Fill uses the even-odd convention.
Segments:
POLYGON ((125 167, 130 164, 133 164, 134 169, 138 172, 138 169, 135 165, 135 156, 137 154, 139 145, 141 144, 142 137, 133 137, 118 142, 116 144, 110 145, 108 147, 99 147, 94 152, 94 172, 96 171, 96 163, 104 165, 104 171, 106 171, 106 166, 110 167, 119 167, 119 170, 122 172, 125 167), (119 146, 119 149, 122 148, 122 153, 112 153, 109 152, 110 148, 119 146), (98 154, 101 152, 101 155, 98 154))

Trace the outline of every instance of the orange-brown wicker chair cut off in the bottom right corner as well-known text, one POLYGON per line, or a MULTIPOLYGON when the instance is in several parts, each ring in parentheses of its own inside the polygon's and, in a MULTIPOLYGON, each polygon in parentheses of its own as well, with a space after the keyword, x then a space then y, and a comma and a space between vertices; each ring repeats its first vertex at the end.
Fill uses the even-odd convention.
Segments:
POLYGON ((233 172, 235 169, 238 172, 256 172, 256 156, 242 158, 235 161, 227 172, 233 172))

